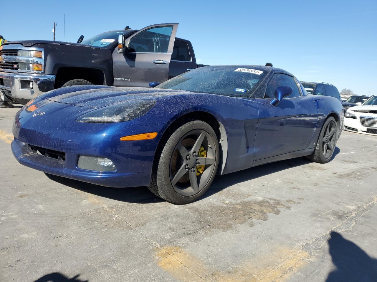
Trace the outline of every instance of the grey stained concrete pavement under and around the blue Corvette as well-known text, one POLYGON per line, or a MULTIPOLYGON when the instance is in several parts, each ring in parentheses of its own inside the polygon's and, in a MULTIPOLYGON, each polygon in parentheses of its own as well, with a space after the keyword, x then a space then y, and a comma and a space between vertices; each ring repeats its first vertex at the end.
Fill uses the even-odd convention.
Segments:
POLYGON ((217 176, 176 206, 32 170, 0 109, 0 281, 375 281, 377 136, 217 176))

